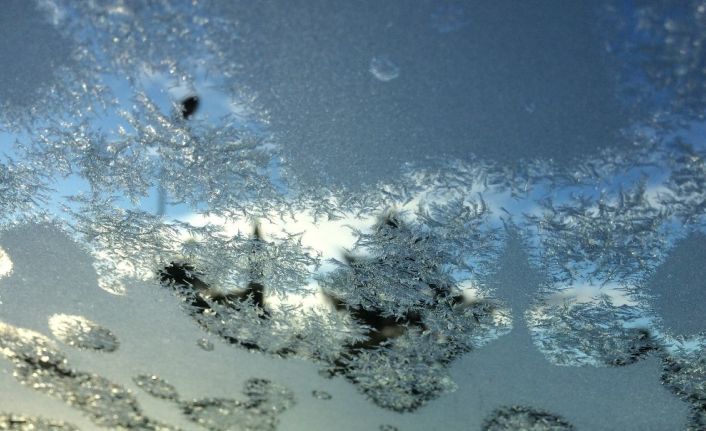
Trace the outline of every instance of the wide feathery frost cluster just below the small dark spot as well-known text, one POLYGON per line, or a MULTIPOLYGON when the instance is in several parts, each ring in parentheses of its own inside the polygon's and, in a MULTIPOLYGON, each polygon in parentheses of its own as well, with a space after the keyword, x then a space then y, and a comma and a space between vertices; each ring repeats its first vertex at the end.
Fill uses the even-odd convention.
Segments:
POLYGON ((212 211, 247 209, 255 196, 274 198, 266 169, 272 157, 262 138, 236 124, 186 124, 137 93, 120 115, 117 137, 88 122, 60 123, 19 148, 45 174, 78 174, 93 193, 122 194, 133 202, 162 187, 170 203, 206 203, 212 211))

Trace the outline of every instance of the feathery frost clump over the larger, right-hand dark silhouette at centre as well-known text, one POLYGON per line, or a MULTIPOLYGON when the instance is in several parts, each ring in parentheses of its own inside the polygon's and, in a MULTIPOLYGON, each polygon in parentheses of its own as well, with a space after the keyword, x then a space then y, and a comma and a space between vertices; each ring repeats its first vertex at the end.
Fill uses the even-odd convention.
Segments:
POLYGON ((388 213, 372 233, 358 233, 360 255, 351 254, 321 280, 335 308, 367 328, 366 338, 336 362, 336 372, 396 411, 453 390, 446 364, 509 323, 498 304, 462 298, 451 274, 465 265, 434 233, 388 213))

